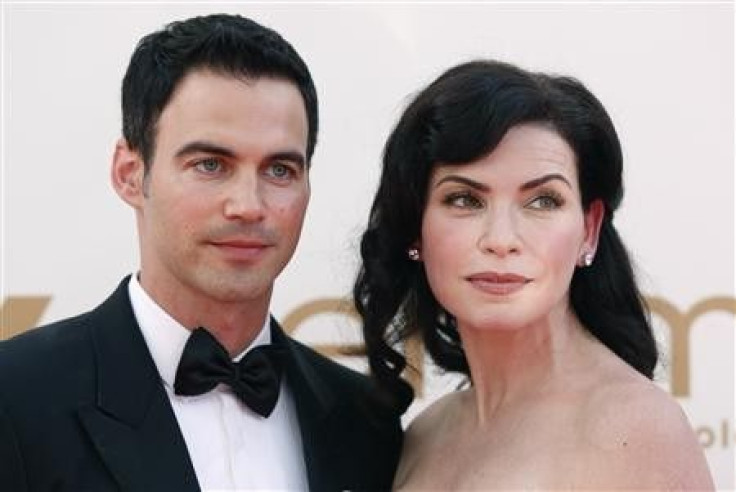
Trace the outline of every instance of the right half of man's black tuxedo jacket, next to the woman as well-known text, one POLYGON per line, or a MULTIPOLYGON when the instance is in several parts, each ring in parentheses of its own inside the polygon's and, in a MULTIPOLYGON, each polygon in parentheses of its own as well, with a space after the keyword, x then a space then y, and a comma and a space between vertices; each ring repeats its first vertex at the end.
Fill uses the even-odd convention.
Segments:
POLYGON ((311 488, 390 490, 405 408, 379 392, 372 378, 293 339, 288 345, 296 367, 287 372, 287 382, 300 417, 309 415, 300 425, 310 475, 316 471, 311 488))

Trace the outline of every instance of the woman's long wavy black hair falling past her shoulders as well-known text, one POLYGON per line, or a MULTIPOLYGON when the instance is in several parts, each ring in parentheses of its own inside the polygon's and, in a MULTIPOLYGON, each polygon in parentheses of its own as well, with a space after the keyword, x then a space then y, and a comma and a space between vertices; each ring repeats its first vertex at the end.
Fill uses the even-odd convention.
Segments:
POLYGON ((525 123, 552 128, 573 149, 584 210, 596 199, 605 206, 595 261, 572 277, 572 310, 592 335, 652 377, 657 348, 649 312, 612 222, 623 196, 623 162, 611 119, 576 79, 480 60, 443 73, 404 111, 386 142, 360 243, 353 297, 371 372, 400 401, 412 398, 401 379, 403 342, 417 332, 438 366, 469 376, 454 318, 432 294, 422 263, 407 256, 420 237, 432 169, 481 158, 525 123))

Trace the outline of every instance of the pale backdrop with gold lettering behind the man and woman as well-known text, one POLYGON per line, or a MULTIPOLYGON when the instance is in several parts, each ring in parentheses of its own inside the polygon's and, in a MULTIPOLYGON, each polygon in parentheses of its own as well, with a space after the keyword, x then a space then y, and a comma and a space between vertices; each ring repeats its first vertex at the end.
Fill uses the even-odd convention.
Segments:
MULTIPOLYGON (((387 133, 407 97, 444 68, 497 57, 575 75, 609 109, 626 156, 617 226, 654 308, 665 355, 658 381, 689 415, 719 487, 734 487, 730 2, 2 8, 0 337, 93 307, 136 268, 133 216, 108 167, 120 79, 143 34, 237 12, 282 32, 312 68, 322 108, 313 198, 273 311, 333 354, 359 341, 341 300, 387 133)), ((424 362, 407 421, 458 382, 424 362)))

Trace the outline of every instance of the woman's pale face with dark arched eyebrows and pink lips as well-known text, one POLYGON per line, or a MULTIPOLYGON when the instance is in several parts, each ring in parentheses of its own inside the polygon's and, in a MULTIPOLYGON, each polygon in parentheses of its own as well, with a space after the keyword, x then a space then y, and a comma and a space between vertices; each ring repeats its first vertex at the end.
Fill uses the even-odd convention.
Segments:
POLYGON ((584 213, 576 157, 553 130, 519 125, 490 154, 430 176, 419 249, 437 300, 478 329, 564 315, 603 207, 584 213))

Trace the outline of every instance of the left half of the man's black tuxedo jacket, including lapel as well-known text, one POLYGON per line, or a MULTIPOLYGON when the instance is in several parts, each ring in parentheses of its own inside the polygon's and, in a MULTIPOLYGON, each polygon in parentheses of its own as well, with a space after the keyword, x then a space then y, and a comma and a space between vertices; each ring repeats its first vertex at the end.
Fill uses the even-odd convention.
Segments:
POLYGON ((127 279, 0 343, 0 490, 197 490, 127 279))

